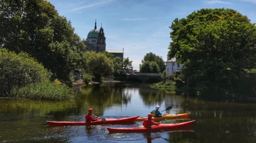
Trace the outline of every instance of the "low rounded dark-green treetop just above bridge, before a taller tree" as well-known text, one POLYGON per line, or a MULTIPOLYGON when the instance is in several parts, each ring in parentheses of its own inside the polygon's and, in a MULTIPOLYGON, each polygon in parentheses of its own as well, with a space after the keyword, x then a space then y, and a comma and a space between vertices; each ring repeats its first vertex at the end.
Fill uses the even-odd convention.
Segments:
POLYGON ((156 62, 143 62, 142 65, 140 65, 140 72, 141 73, 160 73, 159 66, 156 62))

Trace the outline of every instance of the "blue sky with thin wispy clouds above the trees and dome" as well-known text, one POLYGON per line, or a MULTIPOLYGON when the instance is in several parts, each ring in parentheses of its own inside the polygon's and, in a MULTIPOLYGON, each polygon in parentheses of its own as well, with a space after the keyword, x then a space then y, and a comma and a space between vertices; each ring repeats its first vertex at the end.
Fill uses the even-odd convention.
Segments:
POLYGON ((169 26, 202 8, 230 8, 256 23, 256 0, 49 0, 60 16, 71 21, 81 39, 94 29, 104 29, 106 49, 122 50, 135 70, 152 52, 167 60, 171 42, 169 26))

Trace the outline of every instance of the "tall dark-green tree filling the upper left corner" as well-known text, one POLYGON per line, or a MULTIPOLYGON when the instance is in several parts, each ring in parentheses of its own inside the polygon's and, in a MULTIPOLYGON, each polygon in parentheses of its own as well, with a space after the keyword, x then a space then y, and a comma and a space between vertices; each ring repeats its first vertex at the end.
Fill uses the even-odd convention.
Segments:
POLYGON ((1 0, 0 21, 0 48, 31 54, 51 70, 52 80, 71 84, 71 70, 79 65, 85 45, 50 2, 1 0))

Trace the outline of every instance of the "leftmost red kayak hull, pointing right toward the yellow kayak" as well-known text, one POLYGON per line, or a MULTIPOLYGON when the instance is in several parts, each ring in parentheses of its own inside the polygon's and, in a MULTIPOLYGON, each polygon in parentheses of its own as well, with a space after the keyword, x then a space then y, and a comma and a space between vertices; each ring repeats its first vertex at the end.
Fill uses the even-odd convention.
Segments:
POLYGON ((124 122, 132 122, 139 116, 135 117, 128 117, 128 118, 120 118, 120 119, 111 119, 111 118, 106 118, 106 122, 103 122, 101 119, 96 120, 93 122, 85 122, 85 121, 74 121, 74 122, 66 122, 66 121, 60 121, 60 122, 55 122, 55 121, 47 121, 47 123, 50 126, 57 126, 57 125, 99 125, 99 124, 115 124, 115 123, 124 123, 124 122))

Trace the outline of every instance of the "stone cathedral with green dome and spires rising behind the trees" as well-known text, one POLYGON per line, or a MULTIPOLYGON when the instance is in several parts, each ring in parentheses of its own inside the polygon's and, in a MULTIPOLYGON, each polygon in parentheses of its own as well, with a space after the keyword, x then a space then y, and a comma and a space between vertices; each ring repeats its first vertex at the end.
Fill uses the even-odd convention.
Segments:
POLYGON ((90 32, 87 35, 87 38, 85 40, 86 49, 88 51, 95 51, 95 52, 108 52, 114 55, 114 57, 121 57, 121 59, 124 59, 124 49, 123 50, 106 50, 106 37, 104 36, 104 29, 101 28, 98 30, 96 26, 96 20, 95 20, 95 26, 93 30, 90 30, 90 32))

